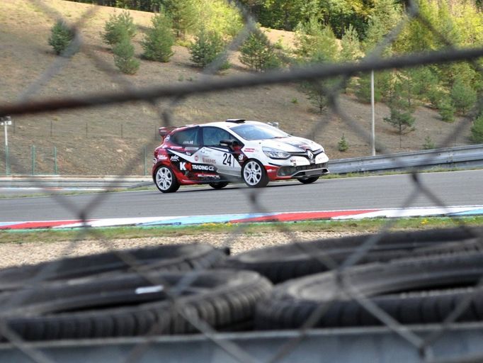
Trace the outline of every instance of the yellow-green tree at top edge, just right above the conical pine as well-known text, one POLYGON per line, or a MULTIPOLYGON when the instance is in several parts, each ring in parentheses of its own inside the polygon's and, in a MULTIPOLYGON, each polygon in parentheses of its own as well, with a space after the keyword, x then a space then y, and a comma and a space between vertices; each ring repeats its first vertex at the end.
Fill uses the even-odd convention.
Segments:
POLYGON ((196 28, 198 11, 194 0, 164 0, 163 9, 173 21, 176 38, 184 38, 196 28))

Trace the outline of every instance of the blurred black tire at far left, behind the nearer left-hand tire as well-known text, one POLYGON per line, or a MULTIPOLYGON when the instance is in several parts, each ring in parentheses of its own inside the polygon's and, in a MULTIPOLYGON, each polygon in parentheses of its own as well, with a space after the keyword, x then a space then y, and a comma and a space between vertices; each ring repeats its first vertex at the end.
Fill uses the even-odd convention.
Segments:
POLYGON ((39 279, 59 281, 130 271, 130 265, 121 259, 123 256, 135 259, 137 268, 143 271, 189 271, 208 269, 219 264, 227 253, 228 250, 218 250, 210 245, 189 243, 120 250, 117 253, 106 252, 29 266, 9 267, 0 270, 0 291, 22 289, 29 284, 38 284, 39 279))

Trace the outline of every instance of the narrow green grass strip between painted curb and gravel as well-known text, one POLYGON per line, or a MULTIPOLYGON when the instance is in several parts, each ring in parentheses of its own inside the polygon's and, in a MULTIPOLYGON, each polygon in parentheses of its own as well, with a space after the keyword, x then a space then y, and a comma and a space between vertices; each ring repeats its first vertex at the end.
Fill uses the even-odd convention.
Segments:
MULTIPOLYGON (((458 225, 483 225, 483 216, 462 218, 374 218, 364 220, 313 220, 290 223, 250 223, 243 226, 242 232, 273 233, 276 231, 299 232, 363 232, 377 233, 391 223, 390 230, 421 230, 428 228, 450 228, 458 225)), ((130 239, 161 236, 199 235, 210 233, 222 235, 237 232, 239 225, 232 223, 207 223, 203 225, 169 225, 149 227, 110 227, 63 230, 4 230, 0 232, 0 243, 15 242, 57 242, 85 239, 130 239)))

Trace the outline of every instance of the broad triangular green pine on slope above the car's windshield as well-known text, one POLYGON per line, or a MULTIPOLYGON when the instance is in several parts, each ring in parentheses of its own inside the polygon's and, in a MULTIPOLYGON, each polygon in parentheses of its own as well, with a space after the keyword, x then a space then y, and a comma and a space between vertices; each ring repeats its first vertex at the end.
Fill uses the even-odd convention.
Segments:
POLYGON ((275 54, 273 45, 260 29, 256 29, 249 35, 240 47, 240 52, 242 53, 240 62, 256 72, 280 67, 280 60, 275 54))

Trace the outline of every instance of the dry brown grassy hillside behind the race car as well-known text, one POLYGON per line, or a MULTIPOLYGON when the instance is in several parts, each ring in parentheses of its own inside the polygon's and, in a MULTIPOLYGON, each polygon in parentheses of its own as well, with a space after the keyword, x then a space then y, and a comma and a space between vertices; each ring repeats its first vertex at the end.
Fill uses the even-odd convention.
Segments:
MULTIPOLYGON (((67 21, 75 23, 91 6, 70 1, 43 1, 55 9, 67 21)), ((188 50, 174 47, 174 56, 168 63, 141 60, 140 70, 134 76, 122 76, 113 65, 113 55, 101 40, 101 30, 110 13, 118 9, 96 6, 96 11, 84 19, 81 28, 84 47, 71 60, 56 57, 47 39, 55 16, 28 0, 7 0, 0 4, 0 102, 18 101, 25 90, 36 82, 47 69, 57 69, 54 77, 47 79, 33 94, 33 98, 92 94, 123 90, 121 79, 127 79, 134 87, 159 84, 201 82, 199 69, 191 66, 188 50), (64 61, 64 65, 59 64, 64 61), (110 72, 106 72, 106 65, 110 72)), ((152 13, 130 11, 135 23, 149 26, 152 13)), ((290 47, 292 33, 271 30, 267 35, 275 43, 278 38, 290 47)), ((135 36, 137 55, 140 55, 142 33, 135 36)), ((232 54, 231 69, 213 77, 230 77, 248 74, 248 70, 232 54)), ((370 105, 360 104, 351 95, 341 96, 343 110, 362 128, 370 131, 370 105)), ((163 111, 170 100, 160 100, 163 111)), ((416 130, 403 136, 399 147, 399 135, 382 120, 388 109, 376 105, 376 139, 391 152, 421 150, 424 140, 431 136, 438 145, 454 133, 455 127, 464 122, 444 123, 438 113, 420 107, 416 117, 416 130)), ((308 136, 322 143, 331 159, 370 155, 369 143, 360 137, 350 125, 346 125, 330 112, 318 115, 296 85, 261 86, 256 89, 232 90, 216 94, 195 96, 174 108, 174 123, 204 123, 225 118, 246 118, 257 121, 278 121, 280 128, 294 135, 308 136), (314 125, 316 131, 312 132, 314 125), (350 145, 347 152, 339 152, 337 143, 342 135, 350 145)), ((52 174, 53 149, 57 147, 59 174, 143 174, 144 147, 147 172, 151 166, 152 149, 159 143, 157 128, 162 125, 158 111, 148 103, 132 103, 123 106, 89 108, 76 111, 21 116, 13 119, 15 127, 8 130, 13 174, 32 172, 32 145, 35 145, 35 173, 52 174)), ((470 125, 465 133, 451 145, 468 143, 470 125)), ((3 130, 0 131, 3 138, 3 130)), ((0 145, 4 155, 4 145, 0 145)), ((4 174, 4 157, 0 160, 0 173, 4 174)))

